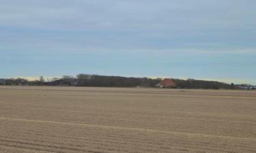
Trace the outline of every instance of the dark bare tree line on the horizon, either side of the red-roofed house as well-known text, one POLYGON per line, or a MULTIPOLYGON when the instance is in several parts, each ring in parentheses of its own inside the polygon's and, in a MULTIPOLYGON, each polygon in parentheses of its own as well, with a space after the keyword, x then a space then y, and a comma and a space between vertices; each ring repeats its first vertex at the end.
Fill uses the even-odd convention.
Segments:
MULTIPOLYGON (((239 85, 205 80, 173 79, 176 88, 204 88, 204 89, 240 89, 239 85)), ((99 87, 155 87, 160 78, 127 78, 121 76, 90 75, 81 73, 76 77, 63 75, 60 79, 45 82, 41 76, 39 80, 29 81, 23 78, 0 79, 0 85, 13 86, 99 86, 99 87), (146 84, 147 86, 143 86, 146 84)), ((253 88, 252 88, 253 89, 253 88)), ((255 88, 254 88, 255 89, 255 88)))

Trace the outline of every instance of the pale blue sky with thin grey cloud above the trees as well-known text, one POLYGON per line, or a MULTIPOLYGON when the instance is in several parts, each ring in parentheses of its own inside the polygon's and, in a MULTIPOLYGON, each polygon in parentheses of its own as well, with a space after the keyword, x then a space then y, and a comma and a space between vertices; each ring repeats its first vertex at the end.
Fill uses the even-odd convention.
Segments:
POLYGON ((256 84, 255 0, 0 0, 0 78, 256 84))

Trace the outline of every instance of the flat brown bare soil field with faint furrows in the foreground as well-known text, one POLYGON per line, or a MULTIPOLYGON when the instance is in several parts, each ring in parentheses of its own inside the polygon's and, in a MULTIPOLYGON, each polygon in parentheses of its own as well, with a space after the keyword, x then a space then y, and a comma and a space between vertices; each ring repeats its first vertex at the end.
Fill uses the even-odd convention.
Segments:
POLYGON ((0 86, 0 152, 256 152, 256 92, 0 86))

